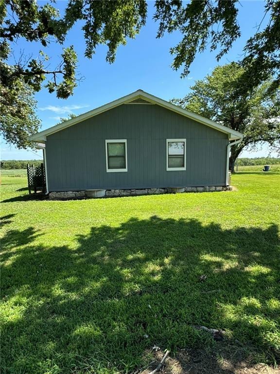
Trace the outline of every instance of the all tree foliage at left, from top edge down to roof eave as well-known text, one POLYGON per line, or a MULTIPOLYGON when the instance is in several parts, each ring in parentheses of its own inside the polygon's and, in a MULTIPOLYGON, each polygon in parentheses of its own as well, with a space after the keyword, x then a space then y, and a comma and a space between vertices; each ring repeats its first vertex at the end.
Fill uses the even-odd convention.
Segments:
POLYGON ((63 16, 50 3, 35 0, 0 1, 0 130, 4 139, 18 148, 30 146, 29 135, 39 129, 35 116, 34 93, 47 87, 50 93, 66 99, 77 86, 77 55, 73 46, 64 47, 68 31, 82 21, 85 56, 91 58, 98 44, 106 44, 106 60, 113 62, 118 46, 135 37, 145 23, 145 1, 69 0, 63 16), (39 42, 42 49, 51 42, 62 45, 61 61, 50 68, 49 56, 38 50, 37 56, 14 52, 20 38, 39 42), (17 59, 11 63, 11 56, 17 59), (23 89, 26 88, 26 90, 23 89), (18 90, 18 88, 20 88, 18 90), (25 91, 24 108, 22 94, 25 91), (29 94, 29 99, 27 95, 29 94), (32 114, 32 115, 31 115, 32 114))

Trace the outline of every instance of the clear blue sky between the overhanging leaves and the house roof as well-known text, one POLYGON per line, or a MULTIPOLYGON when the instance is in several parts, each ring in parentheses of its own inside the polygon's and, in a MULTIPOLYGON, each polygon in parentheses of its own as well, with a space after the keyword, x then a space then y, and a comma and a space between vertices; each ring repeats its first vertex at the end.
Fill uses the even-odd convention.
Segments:
MULTIPOLYGON (((38 1, 43 4, 43 1, 38 1)), ((57 1, 56 7, 63 13, 66 1, 57 1)), ((65 46, 74 45, 78 53, 78 71, 84 77, 75 89, 73 96, 67 100, 57 99, 46 89, 36 94, 37 114, 42 120, 41 130, 55 125, 59 117, 66 117, 68 113, 81 114, 109 101, 117 99, 128 93, 142 89, 165 100, 174 97, 183 97, 190 91, 196 79, 202 79, 211 73, 218 64, 215 53, 205 51, 198 54, 191 66, 190 74, 180 78, 180 72, 173 71, 170 67, 172 56, 169 49, 180 40, 180 35, 174 33, 156 39, 157 23, 152 19, 154 3, 149 2, 148 20, 140 35, 135 39, 129 39, 126 46, 120 46, 117 51, 116 61, 108 64, 105 61, 106 47, 99 46, 92 59, 84 57, 85 42, 81 31, 81 24, 76 24, 70 31, 65 46)), ((263 1, 241 1, 239 4, 239 24, 242 37, 234 42, 229 53, 224 56, 219 64, 238 60, 242 53, 246 40, 255 34, 264 14, 263 1)), ((265 20, 262 27, 265 26, 265 20)), ((26 54, 33 54, 34 58, 39 50, 44 50, 39 43, 28 43, 20 40, 15 48, 17 56, 21 50, 26 54)), ((51 67, 55 67, 61 54, 61 46, 52 43, 45 52, 51 57, 51 67)), ((12 61, 12 60, 11 60, 12 61)), ((2 159, 37 159, 41 158, 41 152, 34 154, 28 150, 17 150, 6 145, 1 140, 2 159)), ((244 151, 244 157, 267 156, 268 148, 255 152, 244 151)))

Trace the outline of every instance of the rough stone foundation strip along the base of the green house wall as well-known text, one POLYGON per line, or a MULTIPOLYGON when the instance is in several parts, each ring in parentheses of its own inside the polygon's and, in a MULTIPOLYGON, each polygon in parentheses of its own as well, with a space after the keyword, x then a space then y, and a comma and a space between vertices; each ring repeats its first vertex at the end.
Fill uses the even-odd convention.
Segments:
MULTIPOLYGON (((206 186, 206 187, 185 187, 185 192, 215 192, 231 191, 231 186, 206 186)), ((167 193, 167 188, 142 188, 142 189, 107 189, 106 197, 137 196, 137 195, 159 195, 167 193)), ((174 192, 173 192, 174 193, 174 192)), ((86 191, 59 191, 50 192, 51 200, 69 200, 86 198, 86 191)))

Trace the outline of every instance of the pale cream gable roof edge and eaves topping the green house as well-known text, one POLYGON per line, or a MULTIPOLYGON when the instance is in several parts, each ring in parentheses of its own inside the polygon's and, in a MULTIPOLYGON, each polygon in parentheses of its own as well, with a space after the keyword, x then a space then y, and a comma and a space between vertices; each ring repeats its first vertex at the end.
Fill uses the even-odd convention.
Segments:
POLYGON ((242 133, 232 130, 226 126, 220 125, 217 122, 211 121, 208 118, 202 117, 201 115, 189 112, 181 107, 178 107, 177 105, 171 104, 168 101, 162 100, 157 96, 151 95, 150 93, 146 93, 142 90, 137 90, 133 93, 129 93, 126 96, 123 96, 117 100, 111 101, 110 103, 107 103, 105 105, 102 105, 101 107, 95 108, 89 112, 83 113, 78 115, 77 117, 74 117, 72 119, 69 119, 68 121, 65 121, 63 123, 59 123, 58 125, 52 126, 47 130, 43 130, 40 132, 37 132, 36 134, 30 136, 30 140, 35 142, 44 143, 47 140, 47 136, 51 135, 55 132, 67 129, 70 126, 73 126, 79 122, 85 121, 88 118, 91 118, 95 115, 101 114, 103 112, 106 112, 110 109, 116 108, 119 105, 122 104, 157 104, 163 108, 169 109, 173 112, 176 112, 178 114, 184 115, 185 117, 191 118, 194 121, 197 121, 199 123, 202 123, 203 125, 209 126, 212 129, 222 131, 224 133, 228 134, 229 140, 236 140, 236 139, 242 139, 243 135, 242 133))

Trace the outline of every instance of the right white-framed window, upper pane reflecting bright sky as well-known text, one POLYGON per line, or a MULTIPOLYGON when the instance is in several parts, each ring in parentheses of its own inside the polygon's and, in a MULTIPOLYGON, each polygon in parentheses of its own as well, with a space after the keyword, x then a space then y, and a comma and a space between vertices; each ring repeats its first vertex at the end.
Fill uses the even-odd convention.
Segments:
POLYGON ((166 170, 186 170, 186 139, 166 139, 166 170))

